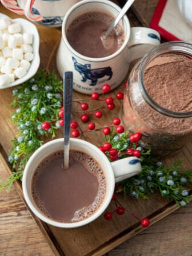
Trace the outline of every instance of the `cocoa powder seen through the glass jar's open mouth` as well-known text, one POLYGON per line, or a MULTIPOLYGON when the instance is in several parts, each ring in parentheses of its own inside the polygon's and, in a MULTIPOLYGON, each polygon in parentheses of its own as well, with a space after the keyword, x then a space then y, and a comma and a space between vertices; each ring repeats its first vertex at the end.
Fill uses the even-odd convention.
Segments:
POLYGON ((192 110, 192 61, 182 54, 163 54, 151 61, 144 73, 150 97, 167 110, 192 110))

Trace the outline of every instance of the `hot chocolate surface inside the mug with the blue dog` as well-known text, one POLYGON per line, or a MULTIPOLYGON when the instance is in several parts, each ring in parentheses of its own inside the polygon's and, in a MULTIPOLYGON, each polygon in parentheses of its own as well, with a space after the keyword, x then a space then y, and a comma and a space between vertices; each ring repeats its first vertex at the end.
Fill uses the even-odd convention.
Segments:
POLYGON ((103 58, 117 51, 124 42, 124 32, 117 25, 107 37, 105 44, 101 36, 109 29, 114 17, 106 13, 90 12, 74 19, 66 32, 67 40, 75 51, 91 58, 103 58))

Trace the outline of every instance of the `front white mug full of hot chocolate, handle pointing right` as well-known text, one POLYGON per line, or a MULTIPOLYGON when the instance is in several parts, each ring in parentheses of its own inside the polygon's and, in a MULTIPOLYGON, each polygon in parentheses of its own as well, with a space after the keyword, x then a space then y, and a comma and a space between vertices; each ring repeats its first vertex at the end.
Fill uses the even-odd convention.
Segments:
POLYGON ((27 205, 42 221, 57 227, 79 227, 106 210, 115 182, 141 171, 137 157, 109 162, 98 147, 70 138, 69 169, 63 169, 64 139, 39 147, 22 179, 27 205))

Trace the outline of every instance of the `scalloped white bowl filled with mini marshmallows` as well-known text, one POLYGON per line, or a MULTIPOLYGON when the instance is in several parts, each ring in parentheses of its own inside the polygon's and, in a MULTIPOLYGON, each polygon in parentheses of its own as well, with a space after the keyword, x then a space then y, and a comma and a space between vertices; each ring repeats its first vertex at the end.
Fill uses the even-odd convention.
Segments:
POLYGON ((37 27, 26 19, 0 13, 0 89, 20 85, 40 63, 37 27))

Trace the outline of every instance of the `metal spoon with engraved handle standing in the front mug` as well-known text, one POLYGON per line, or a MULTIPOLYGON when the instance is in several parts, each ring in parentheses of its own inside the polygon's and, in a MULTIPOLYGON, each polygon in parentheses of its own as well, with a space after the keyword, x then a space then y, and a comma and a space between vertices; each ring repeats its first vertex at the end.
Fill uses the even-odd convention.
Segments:
POLYGON ((72 96, 73 96, 73 72, 67 71, 63 75, 64 169, 69 168, 69 141, 70 141, 72 96))

